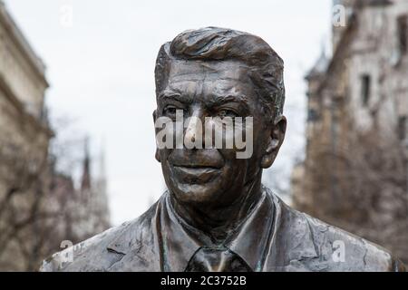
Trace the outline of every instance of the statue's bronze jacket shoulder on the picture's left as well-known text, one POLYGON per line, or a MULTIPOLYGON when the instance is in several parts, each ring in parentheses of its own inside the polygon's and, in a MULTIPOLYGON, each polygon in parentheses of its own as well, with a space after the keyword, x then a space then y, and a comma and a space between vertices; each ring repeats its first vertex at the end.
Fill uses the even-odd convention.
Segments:
POLYGON ((67 247, 44 260, 40 267, 42 272, 78 272, 78 271, 109 271, 109 268, 121 261, 131 247, 132 240, 146 236, 150 231, 151 218, 156 204, 141 217, 112 227, 101 234, 83 242, 67 247))

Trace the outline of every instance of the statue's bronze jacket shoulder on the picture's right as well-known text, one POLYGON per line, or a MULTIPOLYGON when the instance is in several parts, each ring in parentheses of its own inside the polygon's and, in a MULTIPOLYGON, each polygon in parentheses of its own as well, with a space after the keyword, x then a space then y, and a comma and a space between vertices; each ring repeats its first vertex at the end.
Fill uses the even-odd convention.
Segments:
POLYGON ((384 247, 312 218, 277 198, 281 237, 287 242, 285 265, 310 271, 403 271, 384 247), (286 232, 286 234, 284 233, 286 232))

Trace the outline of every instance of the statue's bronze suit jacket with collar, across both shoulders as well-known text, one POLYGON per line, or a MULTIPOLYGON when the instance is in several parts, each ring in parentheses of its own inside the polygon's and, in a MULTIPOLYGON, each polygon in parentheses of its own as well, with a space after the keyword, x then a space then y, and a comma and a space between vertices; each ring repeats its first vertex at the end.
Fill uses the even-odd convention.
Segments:
MULTIPOLYGON (((165 192, 140 218, 44 261, 41 271, 184 271, 211 240, 189 226, 165 192)), ((288 207, 269 189, 224 246, 253 271, 402 271, 384 248, 288 207)))

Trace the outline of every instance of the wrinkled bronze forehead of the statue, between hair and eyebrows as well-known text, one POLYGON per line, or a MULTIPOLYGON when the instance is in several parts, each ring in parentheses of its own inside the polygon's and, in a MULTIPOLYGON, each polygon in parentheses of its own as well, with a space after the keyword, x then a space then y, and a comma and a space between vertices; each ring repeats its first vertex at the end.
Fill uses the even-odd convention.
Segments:
POLYGON ((248 77, 248 66, 234 61, 172 61, 164 92, 189 95, 255 94, 248 77))

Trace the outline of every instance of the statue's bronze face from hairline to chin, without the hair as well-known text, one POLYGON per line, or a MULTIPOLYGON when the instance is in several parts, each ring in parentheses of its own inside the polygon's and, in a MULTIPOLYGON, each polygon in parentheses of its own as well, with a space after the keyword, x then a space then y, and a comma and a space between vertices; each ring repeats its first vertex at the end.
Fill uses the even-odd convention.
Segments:
MULTIPOLYGON (((205 117, 253 117, 253 153, 250 158, 238 159, 236 148, 208 148, 204 145, 202 149, 158 150, 156 157, 161 162, 166 184, 179 202, 227 205, 243 194, 249 181, 260 178, 261 169, 265 167, 262 159, 272 141, 274 126, 271 126, 270 118, 264 116, 245 65, 233 61, 172 61, 167 86, 158 92, 157 100, 155 120, 163 116, 174 120, 176 110, 181 110, 185 120, 199 118, 203 132, 205 117)), ((189 124, 184 135, 194 128, 189 124)), ((281 140, 278 143, 280 146, 281 140)))

